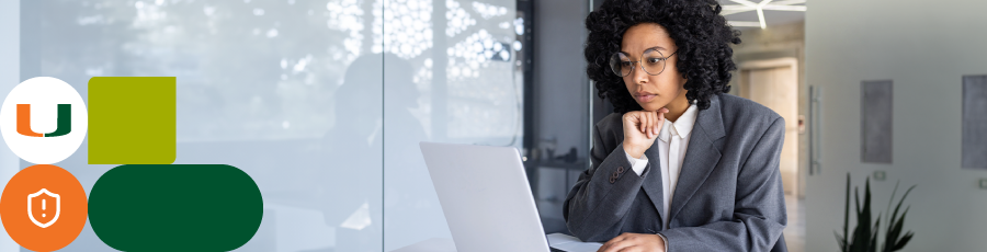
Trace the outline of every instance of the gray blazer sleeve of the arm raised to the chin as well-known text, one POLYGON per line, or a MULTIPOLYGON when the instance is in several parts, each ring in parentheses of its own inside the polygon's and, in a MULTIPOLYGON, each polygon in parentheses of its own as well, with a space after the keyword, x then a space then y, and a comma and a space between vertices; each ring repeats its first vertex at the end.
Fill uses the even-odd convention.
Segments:
POLYGON ((592 165, 579 174, 563 204, 563 217, 569 231, 582 241, 606 241, 621 230, 621 219, 640 190, 643 176, 631 169, 623 144, 604 141, 600 125, 593 128, 592 165))

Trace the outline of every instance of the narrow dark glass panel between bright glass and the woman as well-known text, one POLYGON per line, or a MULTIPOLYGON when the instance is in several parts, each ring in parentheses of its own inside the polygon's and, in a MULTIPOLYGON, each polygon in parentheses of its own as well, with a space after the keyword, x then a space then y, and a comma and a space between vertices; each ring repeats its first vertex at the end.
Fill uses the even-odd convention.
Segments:
MULTIPOLYGON (((568 232, 563 204, 576 184, 579 173, 589 168, 592 127, 613 113, 610 100, 594 101, 597 90, 586 76, 586 16, 589 4, 568 0, 532 1, 536 50, 533 77, 536 83, 531 117, 534 126, 529 142, 529 180, 545 233, 568 232), (538 60, 541 59, 541 60, 538 60), (590 114, 593 105, 602 105, 599 114, 590 114), (595 121, 591 121, 599 116, 595 121)), ((634 57, 639 57, 638 53, 634 57)), ((637 69, 640 70, 639 68, 637 69)))

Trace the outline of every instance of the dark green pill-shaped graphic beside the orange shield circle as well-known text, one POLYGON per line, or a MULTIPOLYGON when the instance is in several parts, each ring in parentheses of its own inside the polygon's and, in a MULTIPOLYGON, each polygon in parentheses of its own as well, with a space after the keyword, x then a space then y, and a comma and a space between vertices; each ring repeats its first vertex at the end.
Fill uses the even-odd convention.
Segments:
POLYGON ((230 251, 262 216, 260 188, 226 164, 120 165, 89 196, 92 230, 122 251, 230 251))

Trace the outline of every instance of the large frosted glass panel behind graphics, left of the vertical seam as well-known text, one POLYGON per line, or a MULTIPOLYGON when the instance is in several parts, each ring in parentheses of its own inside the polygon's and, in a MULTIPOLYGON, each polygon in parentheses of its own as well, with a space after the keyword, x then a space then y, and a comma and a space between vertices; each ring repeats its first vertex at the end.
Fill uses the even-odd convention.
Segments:
MULTIPOLYGON (((381 4, 21 3, 22 77, 59 78, 83 98, 91 77, 178 77, 175 163, 238 167, 263 194, 261 228, 238 251, 382 251, 381 4)), ((59 165, 88 191, 112 165, 86 154, 83 144, 59 165)), ((107 250, 89 227, 65 249, 107 250)))

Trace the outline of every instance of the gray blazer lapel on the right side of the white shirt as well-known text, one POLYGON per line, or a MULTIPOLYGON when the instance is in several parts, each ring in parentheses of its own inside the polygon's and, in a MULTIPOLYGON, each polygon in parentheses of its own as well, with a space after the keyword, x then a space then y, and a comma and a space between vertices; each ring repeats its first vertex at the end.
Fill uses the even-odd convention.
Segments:
MULTIPOLYGON (((679 181, 672 195, 669 217, 673 219, 695 194, 695 191, 706 181, 713 169, 719 163, 719 149, 713 144, 726 136, 723 128, 723 116, 719 111, 719 95, 710 99, 710 108, 699 111, 692 136, 689 138, 689 147, 685 150, 685 160, 682 162, 682 171, 679 172, 679 181)), ((650 156, 648 156, 650 158, 650 156)), ((660 187, 660 186, 659 186, 660 187)))

